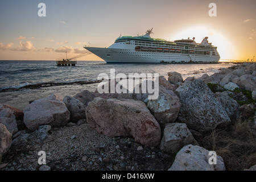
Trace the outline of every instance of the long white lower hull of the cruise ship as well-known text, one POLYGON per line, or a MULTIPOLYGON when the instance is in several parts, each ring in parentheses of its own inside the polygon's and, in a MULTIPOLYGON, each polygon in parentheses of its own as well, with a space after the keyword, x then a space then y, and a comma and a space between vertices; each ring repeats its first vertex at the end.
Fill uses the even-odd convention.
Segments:
POLYGON ((218 63, 220 56, 172 52, 138 52, 134 49, 84 47, 106 63, 218 63))

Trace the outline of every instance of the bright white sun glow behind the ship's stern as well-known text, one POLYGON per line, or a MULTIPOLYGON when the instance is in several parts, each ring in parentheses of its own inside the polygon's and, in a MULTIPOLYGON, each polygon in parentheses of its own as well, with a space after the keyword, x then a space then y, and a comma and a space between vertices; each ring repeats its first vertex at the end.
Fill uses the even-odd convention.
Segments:
POLYGON ((192 39, 195 37, 195 41, 201 43, 206 36, 208 36, 209 43, 212 43, 213 46, 217 47, 221 59, 236 59, 238 56, 237 52, 234 51, 233 44, 230 43, 228 37, 213 28, 206 28, 204 26, 190 27, 177 32, 174 36, 171 36, 171 39, 192 39))

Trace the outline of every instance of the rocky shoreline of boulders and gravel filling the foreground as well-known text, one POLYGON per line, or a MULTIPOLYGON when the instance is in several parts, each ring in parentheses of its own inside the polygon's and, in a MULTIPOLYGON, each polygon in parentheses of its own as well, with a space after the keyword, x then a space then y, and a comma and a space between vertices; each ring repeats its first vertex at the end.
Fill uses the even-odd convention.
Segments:
MULTIPOLYGON (((148 94, 52 94, 24 110, 0 104, 2 171, 224 171, 217 151, 210 164, 203 141, 215 130, 250 121, 256 156, 256 64, 243 63, 185 80, 159 77, 159 97, 148 94), (46 164, 39 164, 39 151, 46 164)), ((141 85, 140 85, 141 86, 141 85)), ((255 160, 243 169, 255 170, 255 160)), ((240 169, 241 169, 240 168, 240 169)))

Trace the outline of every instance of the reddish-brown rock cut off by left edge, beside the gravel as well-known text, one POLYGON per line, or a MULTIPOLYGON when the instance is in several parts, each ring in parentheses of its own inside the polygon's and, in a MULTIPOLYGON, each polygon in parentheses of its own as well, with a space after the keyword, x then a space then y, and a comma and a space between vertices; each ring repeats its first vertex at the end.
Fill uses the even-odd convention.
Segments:
POLYGON ((11 133, 7 130, 6 126, 0 123, 0 164, 2 161, 2 156, 9 151, 11 147, 11 133))

